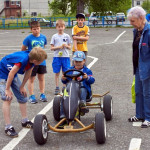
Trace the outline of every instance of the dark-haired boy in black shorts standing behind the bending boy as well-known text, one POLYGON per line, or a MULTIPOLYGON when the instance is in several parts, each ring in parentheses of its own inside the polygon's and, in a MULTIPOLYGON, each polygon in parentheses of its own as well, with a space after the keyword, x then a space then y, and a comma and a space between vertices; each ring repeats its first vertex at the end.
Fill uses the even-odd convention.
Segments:
MULTIPOLYGON (((40 34, 40 23, 38 21, 31 22, 31 32, 29 36, 27 36, 23 41, 22 51, 28 50, 31 51, 34 47, 42 47, 44 48, 47 45, 47 39, 45 35, 40 34)), ((40 88, 40 100, 43 102, 47 102, 47 98, 44 94, 45 92, 45 78, 44 74, 46 71, 46 61, 43 61, 40 65, 36 65, 32 71, 31 77, 29 78, 28 90, 29 90, 29 102, 32 104, 37 103, 36 97, 34 95, 34 80, 36 74, 38 74, 39 80, 39 88, 40 88)))

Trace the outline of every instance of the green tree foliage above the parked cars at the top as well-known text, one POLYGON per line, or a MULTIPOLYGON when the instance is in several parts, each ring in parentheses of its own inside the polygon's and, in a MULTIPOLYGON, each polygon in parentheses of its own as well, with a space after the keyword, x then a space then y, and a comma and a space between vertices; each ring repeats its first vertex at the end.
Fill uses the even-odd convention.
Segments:
POLYGON ((101 12, 101 15, 105 15, 106 11, 112 11, 126 14, 131 3, 132 0, 53 0, 53 2, 49 2, 49 7, 54 16, 60 14, 64 16, 75 15, 79 10, 84 12, 85 7, 88 7, 89 13, 101 12), (84 3, 83 7, 78 5, 80 2, 84 3))

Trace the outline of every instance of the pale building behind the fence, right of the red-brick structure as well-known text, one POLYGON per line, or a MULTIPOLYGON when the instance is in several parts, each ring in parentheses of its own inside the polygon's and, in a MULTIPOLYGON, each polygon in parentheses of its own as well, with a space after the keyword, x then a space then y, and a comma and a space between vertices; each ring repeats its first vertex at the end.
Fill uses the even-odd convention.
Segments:
MULTIPOLYGON (((52 0, 49 0, 50 2, 52 0)), ((50 16, 48 0, 21 0, 22 16, 24 15, 41 15, 50 16)))

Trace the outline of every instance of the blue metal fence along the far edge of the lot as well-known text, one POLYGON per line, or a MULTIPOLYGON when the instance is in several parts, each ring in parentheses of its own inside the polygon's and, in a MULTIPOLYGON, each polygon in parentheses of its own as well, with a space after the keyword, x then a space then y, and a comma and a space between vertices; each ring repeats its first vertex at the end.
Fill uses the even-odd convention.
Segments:
MULTIPOLYGON (((55 27, 56 20, 63 19, 66 27, 74 26, 77 21, 75 17, 49 17, 49 18, 0 18, 0 29, 11 28, 28 28, 31 21, 39 21, 41 27, 55 27)), ((101 17, 97 19, 86 18, 85 24, 93 27, 106 27, 106 26, 128 26, 127 20, 113 19, 108 17, 101 17)))

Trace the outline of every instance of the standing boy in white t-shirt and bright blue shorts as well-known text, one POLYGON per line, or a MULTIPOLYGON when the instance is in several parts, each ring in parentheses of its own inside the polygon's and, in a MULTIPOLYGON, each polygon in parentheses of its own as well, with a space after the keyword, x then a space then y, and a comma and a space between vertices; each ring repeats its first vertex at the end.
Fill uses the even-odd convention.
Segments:
MULTIPOLYGON (((60 93, 59 90, 59 74, 62 68, 62 73, 70 67, 70 57, 68 50, 71 49, 71 38, 68 34, 64 33, 65 21, 57 20, 56 29, 58 33, 54 34, 51 39, 51 50, 54 51, 52 62, 53 72, 55 73, 55 95, 60 93)), ((65 85, 64 85, 65 86, 65 85)), ((64 87, 63 87, 64 89, 64 87)))

